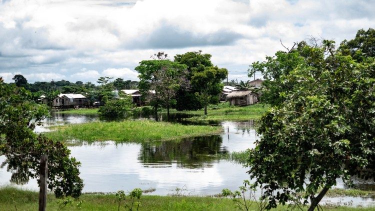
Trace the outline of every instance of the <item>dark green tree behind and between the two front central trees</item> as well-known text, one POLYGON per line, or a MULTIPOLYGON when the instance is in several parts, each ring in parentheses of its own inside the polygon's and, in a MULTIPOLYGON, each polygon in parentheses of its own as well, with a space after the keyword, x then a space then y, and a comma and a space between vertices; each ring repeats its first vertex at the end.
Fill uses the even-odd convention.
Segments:
MULTIPOLYGON (((197 73, 204 71, 206 67, 213 66, 211 62, 211 55, 208 53, 202 54, 202 51, 191 51, 183 54, 177 54, 174 56, 174 61, 185 64, 187 66, 187 80, 191 80, 191 77, 197 73)), ((195 95, 195 92, 199 92, 200 87, 196 87, 191 84, 188 91, 180 89, 176 95, 177 110, 196 110, 202 107, 200 100, 195 95)))

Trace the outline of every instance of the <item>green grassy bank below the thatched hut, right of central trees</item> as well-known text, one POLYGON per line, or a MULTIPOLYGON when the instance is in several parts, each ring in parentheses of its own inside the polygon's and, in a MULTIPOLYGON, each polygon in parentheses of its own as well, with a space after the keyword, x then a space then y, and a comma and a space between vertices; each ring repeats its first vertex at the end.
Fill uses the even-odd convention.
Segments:
POLYGON ((253 104, 248 106, 229 105, 229 102, 221 102, 217 105, 209 105, 207 107, 207 115, 204 110, 186 111, 186 113, 199 115, 187 118, 187 120, 248 120, 258 119, 265 111, 269 109, 267 104, 253 104))

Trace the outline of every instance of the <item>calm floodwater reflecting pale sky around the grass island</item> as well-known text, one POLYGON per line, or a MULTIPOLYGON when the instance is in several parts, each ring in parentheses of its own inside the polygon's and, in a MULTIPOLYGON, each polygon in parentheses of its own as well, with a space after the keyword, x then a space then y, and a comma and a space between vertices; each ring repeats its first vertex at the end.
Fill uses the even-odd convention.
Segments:
MULTIPOLYGON (((177 119, 177 118, 175 118, 177 119)), ((44 120, 45 125, 99 121, 96 115, 52 113, 44 120)), ((155 188, 151 194, 167 195, 175 188, 185 188, 185 194, 212 195, 223 188, 238 189, 248 179, 247 169, 241 164, 220 158, 232 151, 253 148, 256 140, 254 121, 208 122, 219 124, 220 135, 185 138, 180 141, 156 141, 147 143, 94 142, 69 146, 71 155, 81 162, 79 168, 84 181, 84 192, 113 192, 155 188)), ((37 127, 36 132, 46 131, 37 127)), ((0 162, 3 157, 0 157, 0 162)), ((0 185, 8 184, 11 173, 0 168, 0 185)), ((357 179, 361 188, 375 189, 372 182, 357 179)), ((37 189, 35 180, 22 185, 37 189)), ((342 180, 337 187, 347 188, 342 180)), ((352 205, 375 205, 374 198, 324 198, 325 202, 352 201, 352 205)))

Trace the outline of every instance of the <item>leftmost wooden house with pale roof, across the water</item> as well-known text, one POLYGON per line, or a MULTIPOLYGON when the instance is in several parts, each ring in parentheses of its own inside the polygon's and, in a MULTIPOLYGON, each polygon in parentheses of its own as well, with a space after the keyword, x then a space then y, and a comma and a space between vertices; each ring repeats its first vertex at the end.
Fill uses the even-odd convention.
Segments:
POLYGON ((60 93, 52 102, 53 107, 85 107, 88 106, 88 100, 82 94, 60 93))

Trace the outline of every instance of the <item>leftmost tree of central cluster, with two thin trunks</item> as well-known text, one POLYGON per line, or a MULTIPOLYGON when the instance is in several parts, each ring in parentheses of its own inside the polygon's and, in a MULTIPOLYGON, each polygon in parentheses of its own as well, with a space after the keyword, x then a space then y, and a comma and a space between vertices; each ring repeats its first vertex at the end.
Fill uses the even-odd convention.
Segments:
POLYGON ((135 70, 139 72, 139 89, 154 107, 156 119, 159 105, 167 108, 167 119, 169 119, 171 100, 179 88, 186 88, 188 85, 184 76, 186 68, 184 64, 167 59, 143 60, 135 67, 135 70))

